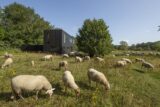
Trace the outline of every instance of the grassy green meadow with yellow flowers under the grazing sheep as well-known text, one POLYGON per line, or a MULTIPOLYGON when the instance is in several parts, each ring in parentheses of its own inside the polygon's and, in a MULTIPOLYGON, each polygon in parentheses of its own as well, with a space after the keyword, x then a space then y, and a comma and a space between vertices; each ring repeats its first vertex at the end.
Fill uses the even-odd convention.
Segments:
MULTIPOLYGON (((2 56, 4 52, 0 52, 2 56)), ((0 69, 0 106, 1 107, 160 107, 160 58, 156 56, 142 57, 155 66, 154 70, 142 69, 140 63, 133 63, 125 68, 113 67, 116 60, 122 56, 105 56, 105 64, 98 64, 94 59, 82 63, 75 63, 74 58, 64 59, 69 62, 76 83, 81 89, 79 98, 73 90, 64 92, 61 80, 63 69, 58 70, 61 56, 54 56, 53 61, 41 61, 44 53, 14 52, 14 63, 11 67, 0 69), (31 66, 35 61, 35 67, 31 66), (95 83, 88 83, 87 70, 93 67, 103 72, 108 78, 111 89, 106 92, 104 87, 95 83), (20 74, 44 75, 56 88, 51 99, 44 92, 39 94, 38 101, 35 93, 25 93, 24 98, 11 101, 10 80, 20 74)), ((135 56, 126 56, 134 61, 135 56)), ((4 58, 0 57, 0 65, 4 58)))

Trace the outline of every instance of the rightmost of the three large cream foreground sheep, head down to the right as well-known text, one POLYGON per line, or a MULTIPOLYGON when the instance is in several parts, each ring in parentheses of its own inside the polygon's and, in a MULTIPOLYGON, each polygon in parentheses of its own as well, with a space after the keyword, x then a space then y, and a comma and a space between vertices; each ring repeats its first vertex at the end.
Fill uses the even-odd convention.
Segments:
POLYGON ((97 71, 93 68, 90 68, 88 70, 87 75, 88 75, 88 79, 89 79, 90 83, 91 83, 91 80, 92 80, 96 83, 100 83, 100 84, 104 85, 106 90, 110 89, 110 84, 109 84, 107 78, 105 77, 105 75, 102 72, 99 72, 99 71, 97 71))

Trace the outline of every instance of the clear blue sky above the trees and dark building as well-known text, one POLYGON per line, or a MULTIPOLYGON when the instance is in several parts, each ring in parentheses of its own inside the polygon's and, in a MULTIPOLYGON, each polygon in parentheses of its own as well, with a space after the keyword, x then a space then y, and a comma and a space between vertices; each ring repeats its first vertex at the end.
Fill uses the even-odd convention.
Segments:
POLYGON ((102 18, 114 44, 160 40, 160 0, 0 0, 29 6, 52 25, 75 36, 85 19, 102 18))

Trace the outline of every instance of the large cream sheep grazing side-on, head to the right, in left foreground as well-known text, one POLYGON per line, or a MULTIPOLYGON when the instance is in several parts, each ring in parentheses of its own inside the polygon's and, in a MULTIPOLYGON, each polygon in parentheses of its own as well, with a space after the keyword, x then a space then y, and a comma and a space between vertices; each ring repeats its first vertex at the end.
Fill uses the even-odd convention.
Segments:
POLYGON ((18 75, 11 80, 11 88, 13 95, 11 99, 16 96, 24 100, 22 91, 36 91, 36 100, 38 99, 38 93, 42 89, 46 91, 50 97, 53 94, 53 90, 50 82, 43 75, 18 75))

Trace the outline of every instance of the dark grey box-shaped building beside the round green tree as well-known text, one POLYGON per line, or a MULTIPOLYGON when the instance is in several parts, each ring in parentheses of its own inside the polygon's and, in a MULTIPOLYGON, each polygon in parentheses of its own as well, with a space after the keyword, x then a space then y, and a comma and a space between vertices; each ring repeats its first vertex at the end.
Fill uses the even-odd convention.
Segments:
POLYGON ((74 37, 62 29, 44 31, 44 51, 69 53, 73 51, 74 37))

